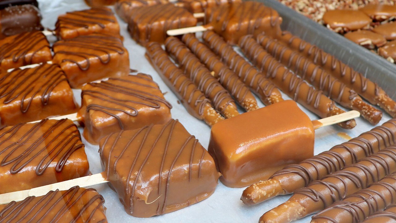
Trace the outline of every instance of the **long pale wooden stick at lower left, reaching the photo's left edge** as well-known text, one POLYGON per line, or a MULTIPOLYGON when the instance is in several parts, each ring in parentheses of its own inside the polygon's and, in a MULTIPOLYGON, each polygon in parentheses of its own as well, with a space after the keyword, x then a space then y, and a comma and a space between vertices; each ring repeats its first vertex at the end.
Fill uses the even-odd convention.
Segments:
POLYGON ((6 194, 0 194, 0 205, 1 204, 8 204, 11 201, 21 201, 24 200, 25 198, 29 196, 44 196, 46 195, 49 191, 51 190, 69 190, 73 186, 80 186, 80 187, 85 187, 89 188, 94 185, 99 185, 103 183, 108 183, 107 179, 105 179, 102 175, 102 173, 86 176, 86 177, 80 177, 77 179, 72 179, 69 181, 63 181, 59 183, 54 183, 46 186, 39 186, 36 188, 32 188, 29 190, 21 190, 21 191, 15 191, 15 192, 10 192, 6 194))

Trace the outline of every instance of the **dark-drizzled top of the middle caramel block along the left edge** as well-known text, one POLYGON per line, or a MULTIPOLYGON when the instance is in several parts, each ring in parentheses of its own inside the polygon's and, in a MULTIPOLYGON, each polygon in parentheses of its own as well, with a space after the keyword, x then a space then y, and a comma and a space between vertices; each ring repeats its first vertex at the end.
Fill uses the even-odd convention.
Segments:
POLYGON ((41 94, 43 106, 48 104, 52 90, 62 81, 67 81, 65 73, 57 65, 42 64, 30 69, 15 69, 0 77, 0 99, 4 98, 3 104, 10 104, 19 100, 21 112, 26 113, 33 99, 41 94), (6 79, 10 79, 6 82, 6 79), (45 79, 45 82, 36 87, 36 82, 45 79), (30 85, 23 86, 25 83, 30 85), (35 90, 35 88, 37 88, 35 90), (35 90, 35 91, 34 91, 35 90))

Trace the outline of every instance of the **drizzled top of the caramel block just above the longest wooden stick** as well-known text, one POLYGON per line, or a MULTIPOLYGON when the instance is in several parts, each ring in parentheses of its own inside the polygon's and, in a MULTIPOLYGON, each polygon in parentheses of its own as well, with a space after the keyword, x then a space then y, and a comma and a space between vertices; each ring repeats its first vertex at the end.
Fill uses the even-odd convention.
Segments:
POLYGON ((35 167, 36 175, 42 175, 55 159, 59 159, 55 170, 61 172, 70 155, 79 148, 84 148, 76 125, 68 124, 67 120, 44 119, 34 124, 18 124, 2 129, 0 131, 0 146, 2 147, 0 155, 4 158, 0 161, 0 165, 10 165, 10 173, 16 174, 25 167, 34 165, 31 163, 32 160, 43 157, 35 167), (32 126, 29 131, 25 131, 26 125, 32 126), (42 135, 39 138, 33 138, 37 132, 42 132, 42 135), (23 134, 23 136, 16 142, 12 142, 11 138, 15 134, 23 134), (62 140, 58 144, 52 144, 55 139, 59 138, 62 140), (28 144, 24 152, 16 154, 15 151, 25 148, 28 144), (57 158, 59 156, 60 158, 57 158))

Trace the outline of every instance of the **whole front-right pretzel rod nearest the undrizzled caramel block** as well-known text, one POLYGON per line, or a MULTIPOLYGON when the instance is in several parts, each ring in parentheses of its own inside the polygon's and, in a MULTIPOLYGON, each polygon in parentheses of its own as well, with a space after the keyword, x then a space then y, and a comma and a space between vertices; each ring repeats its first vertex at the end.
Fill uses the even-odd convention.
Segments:
POLYGON ((241 197, 244 204, 255 205, 280 194, 291 194, 308 183, 322 179, 388 146, 396 144, 396 119, 391 119, 348 142, 334 146, 299 164, 274 173, 267 181, 247 187, 241 197))

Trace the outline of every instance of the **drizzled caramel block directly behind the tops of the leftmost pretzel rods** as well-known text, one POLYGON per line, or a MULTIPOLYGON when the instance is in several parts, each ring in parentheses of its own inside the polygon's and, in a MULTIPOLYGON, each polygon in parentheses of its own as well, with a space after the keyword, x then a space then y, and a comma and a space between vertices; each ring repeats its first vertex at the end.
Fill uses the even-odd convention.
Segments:
POLYGON ((197 19, 184 8, 173 4, 147 6, 135 10, 128 23, 131 37, 145 46, 147 42, 164 43, 166 31, 195 26, 197 19))

